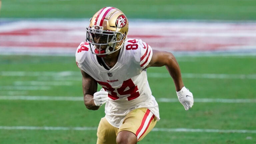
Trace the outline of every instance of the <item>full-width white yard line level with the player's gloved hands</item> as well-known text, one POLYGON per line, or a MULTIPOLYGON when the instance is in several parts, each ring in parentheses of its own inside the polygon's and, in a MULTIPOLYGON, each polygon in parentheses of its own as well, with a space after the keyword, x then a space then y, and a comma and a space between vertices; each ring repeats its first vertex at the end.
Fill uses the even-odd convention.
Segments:
MULTIPOLYGON (((65 97, 65 96, 0 96, 0 100, 45 100, 45 101, 83 101, 81 97, 65 97)), ((179 102, 178 98, 158 98, 158 102, 179 102)), ((194 102, 200 103, 256 103, 256 99, 210 99, 195 98, 194 102)))

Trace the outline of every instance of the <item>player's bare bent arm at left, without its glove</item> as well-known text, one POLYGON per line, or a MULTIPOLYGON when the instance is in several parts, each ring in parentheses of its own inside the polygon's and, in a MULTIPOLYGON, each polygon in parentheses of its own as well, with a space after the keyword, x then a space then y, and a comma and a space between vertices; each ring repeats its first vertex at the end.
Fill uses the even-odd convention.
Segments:
POLYGON ((99 106, 96 106, 93 99, 93 94, 97 92, 97 81, 93 79, 86 72, 81 70, 82 73, 82 87, 84 94, 84 104, 86 108, 90 110, 98 110, 99 106))

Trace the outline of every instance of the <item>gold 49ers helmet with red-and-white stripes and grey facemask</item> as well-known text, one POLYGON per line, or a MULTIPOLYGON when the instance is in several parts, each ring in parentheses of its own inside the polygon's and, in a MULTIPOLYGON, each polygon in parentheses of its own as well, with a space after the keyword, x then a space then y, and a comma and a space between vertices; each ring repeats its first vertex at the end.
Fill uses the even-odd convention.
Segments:
POLYGON ((128 20, 119 9, 100 9, 90 19, 90 25, 86 28, 86 41, 89 42, 92 53, 104 57, 119 50, 127 38, 128 27, 128 20), (101 41, 95 41, 96 38, 101 41))

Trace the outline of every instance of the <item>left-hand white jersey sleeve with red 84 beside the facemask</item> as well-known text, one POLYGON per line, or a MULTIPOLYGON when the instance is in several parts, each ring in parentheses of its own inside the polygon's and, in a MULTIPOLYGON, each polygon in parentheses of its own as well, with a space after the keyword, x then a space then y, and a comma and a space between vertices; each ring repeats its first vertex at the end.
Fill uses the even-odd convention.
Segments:
POLYGON ((80 45, 76 49, 76 65, 81 69, 82 63, 86 58, 86 54, 89 51, 89 43, 81 42, 80 45))

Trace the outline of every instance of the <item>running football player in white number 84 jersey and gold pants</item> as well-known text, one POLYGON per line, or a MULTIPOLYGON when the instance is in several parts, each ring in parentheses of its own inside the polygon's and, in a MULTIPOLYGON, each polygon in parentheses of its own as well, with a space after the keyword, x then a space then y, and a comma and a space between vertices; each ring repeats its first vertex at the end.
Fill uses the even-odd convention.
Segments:
POLYGON ((173 54, 153 50, 142 40, 128 39, 128 27, 122 11, 104 7, 90 19, 86 42, 76 50, 85 106, 98 110, 106 103, 97 144, 136 144, 160 119, 147 80, 148 67, 166 66, 185 110, 193 106, 193 95, 184 87, 173 54), (102 86, 98 92, 97 84, 102 86))

